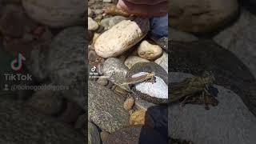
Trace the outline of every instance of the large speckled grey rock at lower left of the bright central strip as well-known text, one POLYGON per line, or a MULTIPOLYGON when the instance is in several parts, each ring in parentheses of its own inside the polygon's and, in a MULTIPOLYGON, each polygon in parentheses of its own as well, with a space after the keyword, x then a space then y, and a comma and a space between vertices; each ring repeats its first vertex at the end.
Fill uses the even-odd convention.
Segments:
POLYGON ((88 118, 110 133, 129 126, 129 114, 123 109, 124 100, 96 82, 88 83, 88 118))

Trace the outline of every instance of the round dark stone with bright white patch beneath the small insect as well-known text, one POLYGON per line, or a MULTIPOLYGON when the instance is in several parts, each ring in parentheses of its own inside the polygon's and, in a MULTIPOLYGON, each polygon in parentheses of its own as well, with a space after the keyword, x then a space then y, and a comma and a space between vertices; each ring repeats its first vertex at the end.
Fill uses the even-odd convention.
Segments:
POLYGON ((131 67, 126 77, 132 77, 134 74, 145 74, 142 72, 154 72, 156 82, 138 83, 132 90, 148 102, 157 104, 166 103, 168 101, 168 74, 166 73, 166 70, 154 62, 141 62, 131 67), (158 92, 150 91, 150 89, 158 92))

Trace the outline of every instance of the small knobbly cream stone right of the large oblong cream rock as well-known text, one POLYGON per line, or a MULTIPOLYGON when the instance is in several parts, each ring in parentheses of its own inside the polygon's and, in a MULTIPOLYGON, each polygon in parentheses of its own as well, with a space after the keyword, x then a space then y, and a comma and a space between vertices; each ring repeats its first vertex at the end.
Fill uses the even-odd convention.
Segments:
POLYGON ((153 60, 162 55, 162 48, 158 45, 150 44, 146 40, 138 46, 138 56, 144 59, 153 60))

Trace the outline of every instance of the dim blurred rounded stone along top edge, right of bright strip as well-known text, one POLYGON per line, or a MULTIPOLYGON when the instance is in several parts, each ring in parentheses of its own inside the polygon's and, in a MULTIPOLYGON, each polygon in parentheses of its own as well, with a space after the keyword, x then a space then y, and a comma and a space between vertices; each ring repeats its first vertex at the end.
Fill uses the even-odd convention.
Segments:
POLYGON ((219 30, 238 15, 237 0, 173 0, 169 8, 170 26, 193 33, 219 30))

